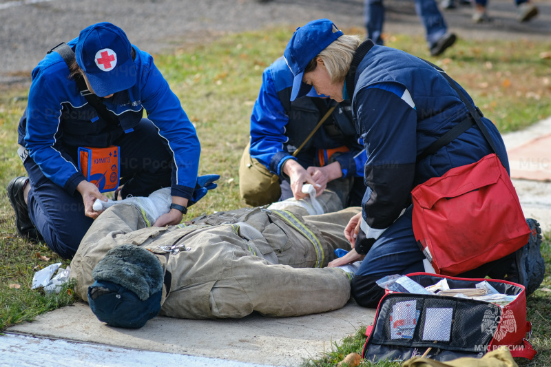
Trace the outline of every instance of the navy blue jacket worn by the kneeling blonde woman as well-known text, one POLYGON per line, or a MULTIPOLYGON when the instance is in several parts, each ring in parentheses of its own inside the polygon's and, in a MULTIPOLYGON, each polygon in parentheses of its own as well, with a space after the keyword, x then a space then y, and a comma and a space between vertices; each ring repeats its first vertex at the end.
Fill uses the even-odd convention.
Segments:
MULTIPOLYGON (((370 40, 356 52, 362 53, 365 55, 355 76, 346 78, 346 88, 368 156, 364 176, 367 190, 362 201, 367 225, 362 229, 366 238, 376 239, 409 205, 413 187, 453 167, 477 162, 492 150, 479 128, 472 125, 450 144, 416 163, 430 144, 468 117, 466 105, 444 76, 416 56, 373 45, 370 40)), ((497 128, 488 118, 482 120, 508 170, 505 145, 497 128)))

